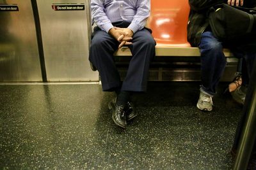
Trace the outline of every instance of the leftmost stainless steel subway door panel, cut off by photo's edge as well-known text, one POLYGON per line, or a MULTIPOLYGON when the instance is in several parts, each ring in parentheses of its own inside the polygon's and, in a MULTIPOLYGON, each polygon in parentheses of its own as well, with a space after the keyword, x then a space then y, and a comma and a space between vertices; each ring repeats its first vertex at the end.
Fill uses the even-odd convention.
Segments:
POLYGON ((0 81, 42 81, 31 1, 0 5, 0 81))

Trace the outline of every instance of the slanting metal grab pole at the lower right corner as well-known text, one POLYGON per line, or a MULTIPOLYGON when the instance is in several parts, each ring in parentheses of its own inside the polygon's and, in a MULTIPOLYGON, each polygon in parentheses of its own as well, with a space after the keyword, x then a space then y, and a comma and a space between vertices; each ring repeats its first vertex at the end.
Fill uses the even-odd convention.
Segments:
POLYGON ((256 59, 246 93, 243 114, 246 115, 237 148, 234 170, 246 169, 256 138, 256 59))

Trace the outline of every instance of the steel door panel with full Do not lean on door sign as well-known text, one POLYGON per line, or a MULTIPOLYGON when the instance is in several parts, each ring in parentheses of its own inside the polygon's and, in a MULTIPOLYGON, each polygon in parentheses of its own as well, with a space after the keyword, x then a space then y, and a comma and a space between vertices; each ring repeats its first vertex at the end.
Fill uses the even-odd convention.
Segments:
POLYGON ((36 2, 47 80, 99 81, 99 73, 90 69, 88 61, 90 1, 37 0, 36 2), (77 10, 76 6, 84 6, 85 9, 77 10))

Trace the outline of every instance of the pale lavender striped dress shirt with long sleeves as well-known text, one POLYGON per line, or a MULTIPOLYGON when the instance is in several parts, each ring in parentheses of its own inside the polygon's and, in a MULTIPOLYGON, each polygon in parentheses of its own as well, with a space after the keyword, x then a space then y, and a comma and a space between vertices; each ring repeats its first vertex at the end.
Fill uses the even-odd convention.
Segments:
POLYGON ((93 21, 108 32, 113 22, 131 22, 129 29, 134 33, 145 27, 150 15, 150 0, 92 0, 93 21))

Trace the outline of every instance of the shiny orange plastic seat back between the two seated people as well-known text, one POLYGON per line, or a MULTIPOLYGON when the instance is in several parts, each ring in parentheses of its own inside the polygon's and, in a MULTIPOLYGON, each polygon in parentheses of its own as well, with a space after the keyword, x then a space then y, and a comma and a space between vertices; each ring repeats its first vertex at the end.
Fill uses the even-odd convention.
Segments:
POLYGON ((157 46, 190 46, 187 41, 189 9, 188 0, 151 0, 147 27, 152 29, 157 46))

